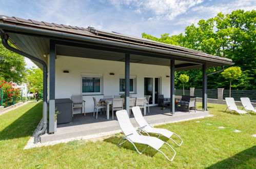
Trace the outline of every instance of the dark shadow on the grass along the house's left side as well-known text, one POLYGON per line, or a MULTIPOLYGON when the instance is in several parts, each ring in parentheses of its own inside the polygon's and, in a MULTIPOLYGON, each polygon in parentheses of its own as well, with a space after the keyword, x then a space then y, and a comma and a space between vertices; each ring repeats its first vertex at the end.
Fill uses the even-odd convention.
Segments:
MULTIPOLYGON (((27 104, 31 104, 31 103, 27 103, 27 104)), ((23 113, 21 112, 20 109, 15 109, 15 110, 19 111, 19 113, 23 113)), ((13 116, 6 117, 6 118, 12 118, 12 117, 15 118, 15 115, 17 115, 17 112, 15 112, 15 114, 13 113, 13 116)), ((21 117, 19 117, 18 119, 13 121, 11 124, 6 126, 6 128, 0 132, 0 140, 9 140, 9 139, 32 136, 41 118, 42 118, 42 102, 35 104, 34 107, 27 110, 21 117)))

